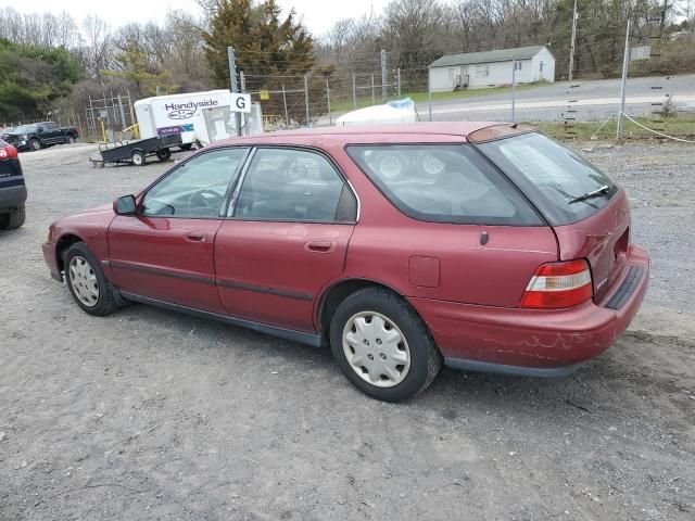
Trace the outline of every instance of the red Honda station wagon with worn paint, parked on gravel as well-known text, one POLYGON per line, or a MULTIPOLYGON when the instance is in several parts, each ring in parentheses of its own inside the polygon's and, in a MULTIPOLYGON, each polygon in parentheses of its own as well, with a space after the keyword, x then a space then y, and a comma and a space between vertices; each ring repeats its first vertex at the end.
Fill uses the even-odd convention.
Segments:
POLYGON ((622 189, 491 123, 228 140, 58 220, 43 255, 91 315, 135 301, 330 345, 392 402, 442 364, 573 371, 626 330, 649 271, 622 189))

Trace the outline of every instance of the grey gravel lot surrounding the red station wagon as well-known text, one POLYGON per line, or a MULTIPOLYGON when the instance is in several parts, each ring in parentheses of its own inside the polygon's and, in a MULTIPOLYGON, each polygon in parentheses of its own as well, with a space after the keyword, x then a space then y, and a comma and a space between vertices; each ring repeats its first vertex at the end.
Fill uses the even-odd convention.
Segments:
POLYGON ((55 218, 166 165, 22 155, 0 234, 0 520, 695 518, 695 149, 587 155, 628 190, 650 292, 560 380, 444 370, 417 399, 356 392, 330 353, 146 306, 92 318, 52 281, 55 218))

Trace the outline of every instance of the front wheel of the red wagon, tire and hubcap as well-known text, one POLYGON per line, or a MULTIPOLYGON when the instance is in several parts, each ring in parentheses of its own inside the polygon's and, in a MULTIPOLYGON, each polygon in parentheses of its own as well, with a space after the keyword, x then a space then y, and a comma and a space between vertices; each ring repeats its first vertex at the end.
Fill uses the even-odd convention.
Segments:
POLYGON ((103 317, 119 307, 121 300, 116 296, 116 290, 106 279, 99 260, 84 242, 76 242, 67 249, 63 265, 65 266, 65 284, 85 313, 103 317))

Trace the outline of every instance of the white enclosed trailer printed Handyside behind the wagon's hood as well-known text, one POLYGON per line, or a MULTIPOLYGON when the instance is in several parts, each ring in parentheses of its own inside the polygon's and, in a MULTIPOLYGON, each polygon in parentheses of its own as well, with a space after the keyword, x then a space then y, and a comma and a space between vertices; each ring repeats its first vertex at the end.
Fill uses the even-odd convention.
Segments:
POLYGON ((233 129, 233 113, 251 112, 251 96, 231 93, 228 90, 208 90, 184 94, 155 96, 138 100, 134 103, 135 115, 142 139, 180 135, 184 148, 195 142, 195 116, 205 109, 227 107, 231 114, 230 125, 233 129))

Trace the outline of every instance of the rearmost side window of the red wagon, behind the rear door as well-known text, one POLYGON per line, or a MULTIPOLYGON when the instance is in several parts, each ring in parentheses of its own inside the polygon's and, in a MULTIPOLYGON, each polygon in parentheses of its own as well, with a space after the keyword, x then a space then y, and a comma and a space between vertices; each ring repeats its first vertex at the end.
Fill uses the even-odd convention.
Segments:
POLYGON ((540 226, 517 190, 469 144, 351 145, 348 154, 408 217, 540 226))

